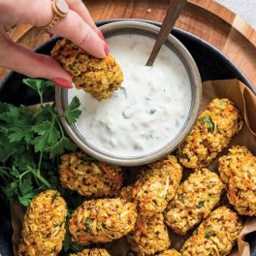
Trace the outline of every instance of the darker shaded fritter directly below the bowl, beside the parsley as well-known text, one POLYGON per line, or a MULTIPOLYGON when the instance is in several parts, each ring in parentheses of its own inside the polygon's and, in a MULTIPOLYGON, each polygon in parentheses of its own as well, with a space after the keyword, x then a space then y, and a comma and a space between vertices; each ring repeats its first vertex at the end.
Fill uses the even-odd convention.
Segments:
POLYGON ((92 162, 77 151, 61 156, 59 178, 65 188, 87 197, 117 195, 123 182, 122 169, 102 162, 92 162))

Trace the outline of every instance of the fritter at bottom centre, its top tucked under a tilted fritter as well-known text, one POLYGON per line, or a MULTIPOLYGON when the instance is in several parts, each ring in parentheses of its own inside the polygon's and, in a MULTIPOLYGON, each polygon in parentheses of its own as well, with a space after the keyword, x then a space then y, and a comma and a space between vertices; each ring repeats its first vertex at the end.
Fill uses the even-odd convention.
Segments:
POLYGON ((158 213, 149 219, 138 217, 135 229, 128 234, 127 240, 132 250, 140 256, 154 255, 166 250, 171 245, 171 240, 163 214, 158 213))

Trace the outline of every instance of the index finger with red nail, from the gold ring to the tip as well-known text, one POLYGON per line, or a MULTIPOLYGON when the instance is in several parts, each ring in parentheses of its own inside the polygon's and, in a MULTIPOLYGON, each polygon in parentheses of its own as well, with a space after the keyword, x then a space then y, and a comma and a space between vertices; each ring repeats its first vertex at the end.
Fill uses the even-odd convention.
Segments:
POLYGON ((72 10, 50 32, 71 40, 95 57, 103 58, 109 54, 108 45, 72 10))

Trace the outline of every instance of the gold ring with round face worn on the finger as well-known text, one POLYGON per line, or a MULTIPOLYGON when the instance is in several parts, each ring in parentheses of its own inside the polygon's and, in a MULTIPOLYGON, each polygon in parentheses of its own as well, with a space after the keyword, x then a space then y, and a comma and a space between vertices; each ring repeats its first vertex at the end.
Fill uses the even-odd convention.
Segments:
POLYGON ((60 18, 66 16, 69 13, 69 6, 65 0, 52 0, 51 6, 54 16, 45 27, 47 31, 54 27, 59 22, 60 18))

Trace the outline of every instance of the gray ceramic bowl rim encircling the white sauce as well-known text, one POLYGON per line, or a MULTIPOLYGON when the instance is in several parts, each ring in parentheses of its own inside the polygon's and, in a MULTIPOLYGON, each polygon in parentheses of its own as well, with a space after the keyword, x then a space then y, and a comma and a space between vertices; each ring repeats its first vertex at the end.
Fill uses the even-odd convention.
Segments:
MULTIPOLYGON (((100 27, 100 29, 106 38, 120 34, 140 34, 150 38, 156 38, 159 32, 159 27, 140 21, 117 21, 103 25, 100 27)), ((86 138, 80 134, 79 127, 76 124, 69 125, 65 117, 62 117, 61 122, 64 129, 74 143, 78 144, 82 151, 98 160, 115 165, 140 166, 156 161, 174 151, 176 147, 187 137, 196 121, 200 109, 202 82, 197 65, 188 50, 171 34, 169 35, 165 45, 174 50, 183 62, 189 74, 192 87, 192 102, 189 116, 180 132, 176 135, 176 138, 170 142, 167 142, 164 147, 160 148, 158 151, 154 151, 151 154, 138 157, 121 157, 112 154, 112 152, 106 153, 100 151, 99 149, 94 148, 91 144, 88 144, 86 142, 86 138)), ((68 107, 68 90, 56 86, 55 101, 57 110, 59 114, 62 115, 65 109, 68 107)))

